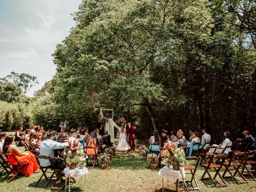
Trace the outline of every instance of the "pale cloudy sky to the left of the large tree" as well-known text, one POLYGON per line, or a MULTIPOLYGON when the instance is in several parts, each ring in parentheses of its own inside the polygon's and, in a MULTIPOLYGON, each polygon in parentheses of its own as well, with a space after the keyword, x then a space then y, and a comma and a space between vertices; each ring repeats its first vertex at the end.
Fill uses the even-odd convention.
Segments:
POLYGON ((82 0, 0 0, 0 78, 14 71, 36 76, 44 86, 56 73, 51 56, 76 25, 70 14, 82 0))

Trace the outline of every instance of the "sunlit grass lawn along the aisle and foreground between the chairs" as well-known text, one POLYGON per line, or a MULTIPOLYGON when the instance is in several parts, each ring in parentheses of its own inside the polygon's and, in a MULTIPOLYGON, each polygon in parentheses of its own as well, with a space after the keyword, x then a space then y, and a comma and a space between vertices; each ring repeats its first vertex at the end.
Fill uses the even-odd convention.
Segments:
MULTIPOLYGON (((115 140, 117 143, 118 140, 115 140)), ((19 148, 24 150, 23 148, 19 148)), ((158 176, 158 171, 150 170, 149 162, 144 161, 138 151, 135 152, 117 152, 116 156, 112 158, 109 163, 109 168, 101 170, 99 167, 95 167, 93 170, 89 170, 89 175, 86 180, 88 192, 115 192, 115 191, 127 191, 127 192, 162 192, 159 190, 162 184, 161 178, 158 176)), ((199 178, 202 176, 204 169, 198 166, 196 172, 196 179, 200 186, 200 191, 204 192, 256 192, 256 182, 246 176, 248 184, 236 184, 234 180, 225 179, 228 187, 216 188, 210 180, 201 181, 199 178)), ((41 175, 41 171, 38 170, 28 178, 18 176, 9 184, 6 182, 0 182, 1 191, 37 191, 47 192, 55 191, 51 190, 50 185, 44 188, 34 187, 38 178, 41 175)), ((8 178, 10 179, 10 177, 8 178)), ((79 188, 80 179, 77 180, 77 184, 72 184, 72 191, 84 191, 85 188, 79 188)), ((165 182, 167 185, 167 182, 165 182)), ((170 192, 174 190, 164 190, 170 192)))

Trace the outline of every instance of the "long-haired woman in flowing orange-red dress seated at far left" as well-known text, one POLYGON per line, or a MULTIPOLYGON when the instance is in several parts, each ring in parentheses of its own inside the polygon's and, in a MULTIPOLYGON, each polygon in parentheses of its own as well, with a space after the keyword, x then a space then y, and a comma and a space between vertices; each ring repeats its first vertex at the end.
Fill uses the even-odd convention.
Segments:
MULTIPOLYGON (((18 148, 15 145, 12 145, 12 142, 14 141, 14 138, 12 135, 6 136, 4 140, 3 145, 3 154, 12 153, 17 158, 18 162, 20 163, 26 163, 29 162, 28 165, 24 167, 24 170, 28 175, 32 175, 32 173, 36 172, 36 170, 39 169, 39 165, 36 161, 35 156, 30 151, 19 151, 18 148)), ((14 160, 12 156, 8 156, 8 160, 10 164, 17 164, 17 162, 14 160)), ((20 172, 22 175, 25 175, 24 172, 20 172)), ((14 171, 14 174, 16 172, 14 171)))

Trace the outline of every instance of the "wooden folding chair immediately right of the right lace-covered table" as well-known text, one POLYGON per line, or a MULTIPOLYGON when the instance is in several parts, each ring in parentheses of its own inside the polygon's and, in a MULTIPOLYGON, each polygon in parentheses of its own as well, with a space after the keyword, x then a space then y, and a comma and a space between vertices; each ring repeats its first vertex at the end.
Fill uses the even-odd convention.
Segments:
MULTIPOLYGON (((186 175, 188 175, 188 174, 191 174, 191 175, 192 175, 191 179, 189 179, 189 180, 184 180, 184 185, 185 185, 185 188, 186 188, 187 191, 190 191, 190 190, 198 190, 198 191, 200 191, 199 186, 198 186, 198 183, 197 183, 196 178, 195 178, 195 174, 196 174, 196 170, 197 170, 197 167, 198 167, 198 164, 199 164, 199 160, 200 160, 200 158, 199 158, 199 157, 195 157, 195 156, 194 156, 194 157, 187 157, 187 158, 186 158, 186 162, 185 162, 186 166, 183 166, 183 168, 184 168, 185 171, 190 171, 190 172, 186 172, 186 175), (194 160, 194 161, 196 161, 196 165, 195 165, 194 167, 189 166, 189 165, 187 164, 188 160, 194 160), (192 184, 193 180, 194 180, 194 182, 195 182, 195 184, 196 184, 196 187, 190 187, 190 188, 188 188, 186 182, 191 182, 191 184, 192 184)), ((179 182, 182 182, 182 181, 179 181, 179 182)))

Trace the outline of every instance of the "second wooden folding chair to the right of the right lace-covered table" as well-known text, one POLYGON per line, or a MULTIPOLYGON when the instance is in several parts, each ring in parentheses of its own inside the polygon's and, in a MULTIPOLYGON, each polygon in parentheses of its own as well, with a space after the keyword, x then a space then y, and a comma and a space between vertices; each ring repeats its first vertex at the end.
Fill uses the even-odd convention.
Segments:
POLYGON ((223 166, 223 164, 224 164, 224 162, 225 162, 225 159, 226 159, 226 154, 219 154, 219 155, 210 155, 211 157, 210 157, 210 160, 209 160, 209 162, 208 162, 208 164, 201 164, 201 166, 205 169, 205 171, 204 171, 204 173, 203 173, 203 175, 202 175, 202 177, 201 177, 201 180, 207 180, 207 179, 210 179, 210 180, 212 180, 212 182, 214 183, 214 185, 216 186, 216 187, 225 187, 225 186, 227 186, 227 184, 226 184, 226 182, 225 182, 225 180, 223 179, 223 177, 220 175, 220 169, 222 168, 222 166, 223 166), (220 158, 220 160, 221 160, 221 163, 220 163, 220 165, 216 165, 215 163, 214 163, 214 158, 220 158), (209 169, 211 169, 212 171, 209 171, 209 169), (211 175, 210 175, 210 172, 215 172, 215 175, 214 175, 214 177, 212 177, 211 175), (209 178, 204 178, 204 176, 206 175, 206 173, 208 174, 208 176, 209 176, 209 178), (217 185, 216 184, 216 181, 215 181, 215 179, 216 179, 216 177, 217 176, 219 176, 220 177, 220 179, 222 180, 222 182, 223 182, 223 184, 219 184, 219 185, 217 185))

